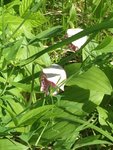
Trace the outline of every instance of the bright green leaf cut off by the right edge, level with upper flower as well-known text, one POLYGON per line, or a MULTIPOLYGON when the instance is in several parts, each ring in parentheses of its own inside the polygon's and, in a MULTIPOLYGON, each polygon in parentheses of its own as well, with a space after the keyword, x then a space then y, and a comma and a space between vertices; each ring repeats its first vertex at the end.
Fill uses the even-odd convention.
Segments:
POLYGON ((113 38, 112 37, 106 37, 101 44, 99 44, 94 51, 98 53, 109 53, 113 52, 113 38))

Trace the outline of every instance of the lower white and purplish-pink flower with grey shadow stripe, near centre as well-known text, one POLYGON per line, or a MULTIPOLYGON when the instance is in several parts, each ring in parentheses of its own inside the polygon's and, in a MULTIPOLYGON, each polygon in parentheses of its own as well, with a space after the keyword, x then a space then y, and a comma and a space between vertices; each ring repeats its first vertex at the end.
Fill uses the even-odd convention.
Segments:
MULTIPOLYGON (((65 70, 58 64, 52 64, 48 68, 44 68, 41 74, 41 91, 46 94, 49 93, 48 88, 51 86, 53 88, 59 88, 64 91, 64 82, 66 80, 65 70)), ((54 91, 53 95, 57 94, 54 91)))

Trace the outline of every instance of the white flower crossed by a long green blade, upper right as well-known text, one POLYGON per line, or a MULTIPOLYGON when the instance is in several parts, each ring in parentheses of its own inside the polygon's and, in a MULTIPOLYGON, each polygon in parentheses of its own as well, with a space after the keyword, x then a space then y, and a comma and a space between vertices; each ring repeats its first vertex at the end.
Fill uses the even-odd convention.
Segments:
MULTIPOLYGON (((67 36, 71 37, 79 32, 83 31, 81 28, 73 28, 67 30, 67 36)), ((75 50, 79 50, 81 46, 87 41, 87 36, 84 36, 76 41, 72 42, 72 45, 75 46, 75 50)), ((73 47, 72 47, 73 48, 73 47)))

